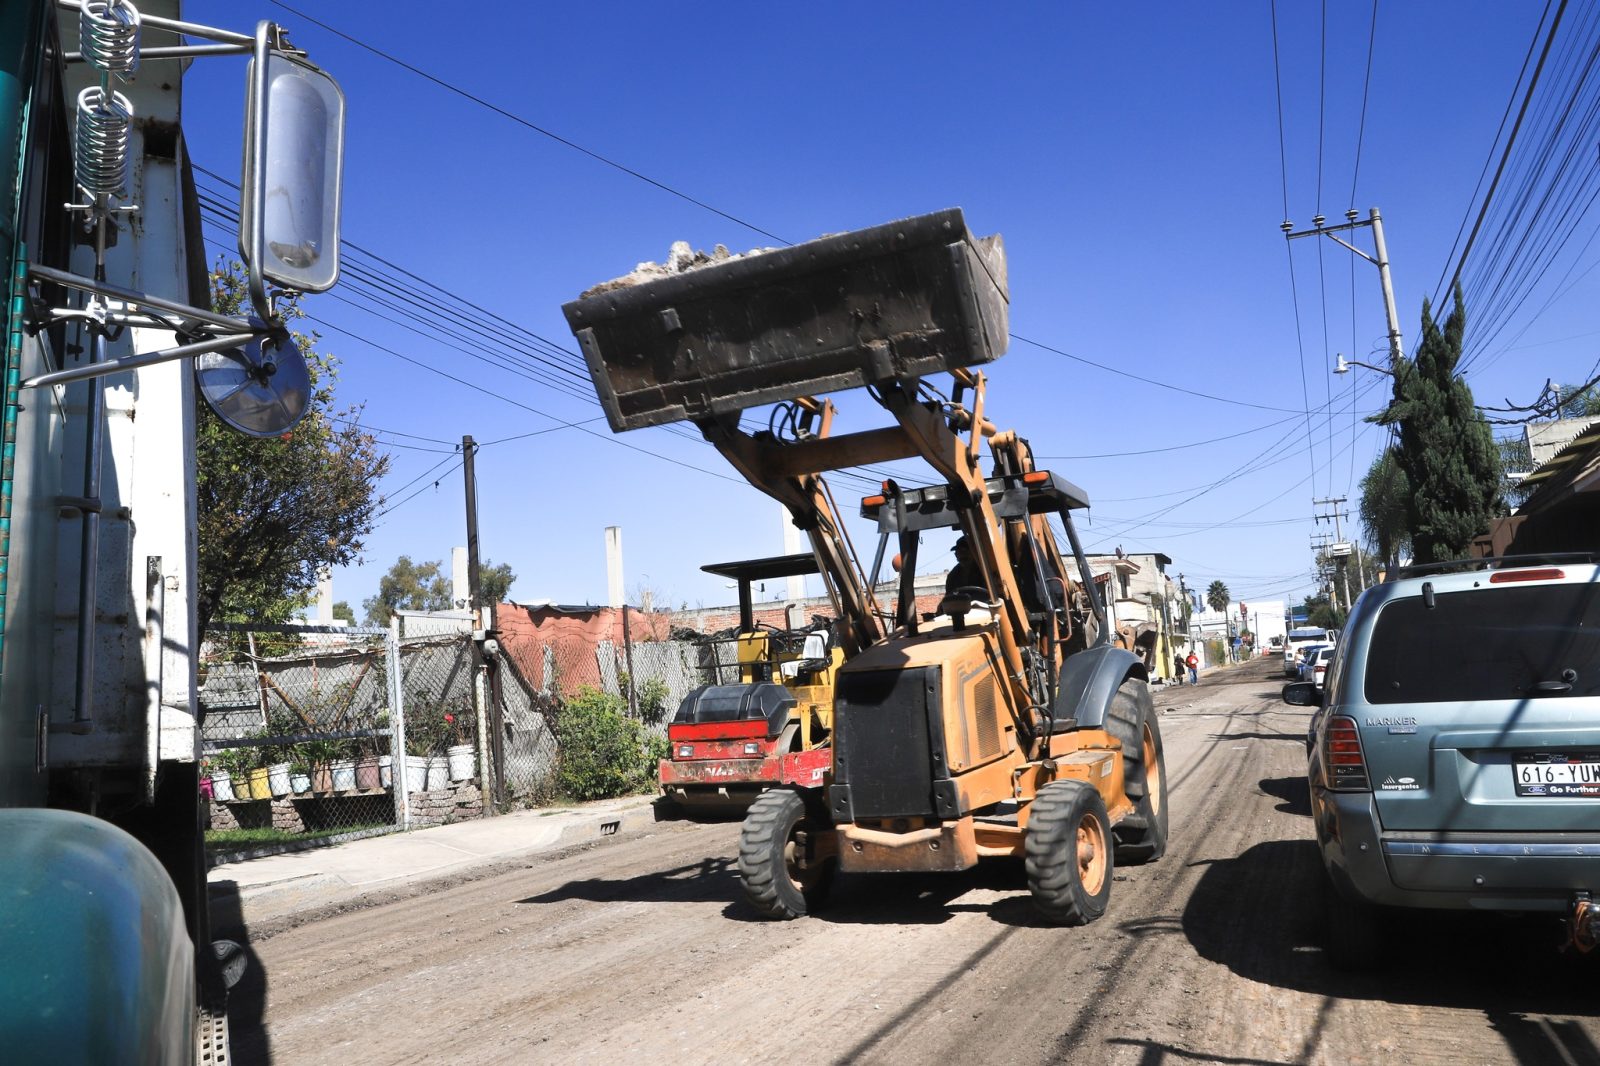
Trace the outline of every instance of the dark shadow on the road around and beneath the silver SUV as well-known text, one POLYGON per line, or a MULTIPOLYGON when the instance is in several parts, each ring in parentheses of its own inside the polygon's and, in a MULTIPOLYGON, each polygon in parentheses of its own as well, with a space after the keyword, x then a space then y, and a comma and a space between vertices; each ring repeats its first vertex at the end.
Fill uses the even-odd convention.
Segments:
MULTIPOLYGON (((1262 781, 1291 807, 1293 778, 1262 781), (1269 787, 1270 786, 1270 787, 1269 787)), ((1304 813, 1299 808, 1298 813, 1304 813)), ((1270 840, 1206 866, 1182 914, 1195 951, 1277 988, 1342 999, 1483 1012, 1520 1063, 1600 1063, 1578 1026, 1541 1015, 1600 1016, 1600 960, 1562 954, 1554 917, 1406 911, 1381 972, 1352 975, 1323 957, 1326 877, 1312 840, 1270 840)))

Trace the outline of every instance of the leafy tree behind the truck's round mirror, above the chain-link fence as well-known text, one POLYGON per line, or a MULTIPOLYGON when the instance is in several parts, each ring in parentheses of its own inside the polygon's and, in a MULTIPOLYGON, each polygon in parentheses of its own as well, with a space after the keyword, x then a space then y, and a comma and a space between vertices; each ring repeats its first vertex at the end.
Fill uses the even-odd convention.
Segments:
MULTIPOLYGON (((238 264, 218 264, 211 306, 250 314, 246 288, 238 264)), ((293 303, 285 312, 301 315, 293 303)), ((360 408, 334 410, 334 357, 317 351, 315 335, 293 338, 310 368, 312 394, 291 432, 246 437, 198 403, 195 600, 202 629, 213 619, 288 621, 310 602, 322 570, 360 557, 382 504, 378 482, 389 456, 357 424, 360 408)))

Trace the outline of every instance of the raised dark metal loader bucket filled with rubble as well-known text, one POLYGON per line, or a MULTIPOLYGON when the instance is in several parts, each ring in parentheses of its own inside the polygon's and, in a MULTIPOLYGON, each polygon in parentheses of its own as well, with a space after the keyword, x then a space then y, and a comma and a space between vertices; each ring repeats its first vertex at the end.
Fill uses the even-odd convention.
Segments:
POLYGON ((974 367, 1006 347, 1005 246, 973 237, 958 208, 630 282, 562 307, 618 432, 974 367))

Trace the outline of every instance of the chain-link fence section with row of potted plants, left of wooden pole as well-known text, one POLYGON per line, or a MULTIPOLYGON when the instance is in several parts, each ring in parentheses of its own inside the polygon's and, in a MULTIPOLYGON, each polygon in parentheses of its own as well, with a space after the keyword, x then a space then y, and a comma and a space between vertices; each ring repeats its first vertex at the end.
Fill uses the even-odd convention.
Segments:
POLYGON ((198 672, 213 850, 483 810, 470 634, 216 626, 198 672))

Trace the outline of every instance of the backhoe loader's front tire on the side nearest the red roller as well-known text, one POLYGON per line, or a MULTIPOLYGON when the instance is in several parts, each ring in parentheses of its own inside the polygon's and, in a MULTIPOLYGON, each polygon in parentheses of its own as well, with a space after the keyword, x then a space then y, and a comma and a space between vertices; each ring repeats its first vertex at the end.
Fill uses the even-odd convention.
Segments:
POLYGON ((744 898, 765 917, 797 919, 819 909, 834 885, 834 860, 803 863, 797 834, 806 826, 805 802, 794 792, 763 792, 739 829, 739 880, 744 898))

